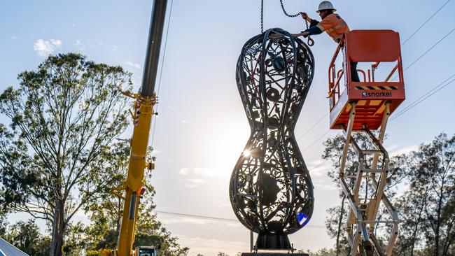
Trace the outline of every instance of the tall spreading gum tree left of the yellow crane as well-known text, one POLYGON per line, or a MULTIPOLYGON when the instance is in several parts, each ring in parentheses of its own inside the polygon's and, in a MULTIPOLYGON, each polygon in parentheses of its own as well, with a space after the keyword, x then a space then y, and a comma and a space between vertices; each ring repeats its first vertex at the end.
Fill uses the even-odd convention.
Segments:
POLYGON ((0 95, 0 204, 52 227, 61 255, 73 215, 111 186, 113 140, 127 127, 131 73, 78 54, 50 56, 0 95))

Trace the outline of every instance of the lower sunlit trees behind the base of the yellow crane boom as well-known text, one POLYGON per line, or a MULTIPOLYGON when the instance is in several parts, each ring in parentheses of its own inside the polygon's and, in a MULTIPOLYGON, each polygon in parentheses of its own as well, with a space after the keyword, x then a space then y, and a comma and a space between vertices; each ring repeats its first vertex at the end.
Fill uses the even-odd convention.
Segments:
MULTIPOLYGON (((120 187, 126 176, 128 166, 128 153, 130 147, 125 143, 116 143, 115 162, 116 166, 112 171, 112 186, 120 187)), ((149 149, 148 152, 151 152, 149 149)), ((162 227, 156 214, 153 213, 155 205, 153 204, 153 195, 155 189, 150 185, 150 176, 146 176, 144 187, 146 193, 141 197, 139 204, 139 213, 136 224, 136 233, 133 248, 137 246, 155 246, 160 248, 158 255, 163 256, 183 256, 188 254, 189 248, 181 247, 177 243, 177 238, 162 227)), ((118 233, 120 230, 120 220, 123 210, 123 200, 114 197, 113 194, 106 190, 102 197, 98 197, 87 204, 85 212, 90 215, 92 224, 85 228, 85 248, 92 255, 97 255, 99 250, 104 248, 116 248, 118 233)))

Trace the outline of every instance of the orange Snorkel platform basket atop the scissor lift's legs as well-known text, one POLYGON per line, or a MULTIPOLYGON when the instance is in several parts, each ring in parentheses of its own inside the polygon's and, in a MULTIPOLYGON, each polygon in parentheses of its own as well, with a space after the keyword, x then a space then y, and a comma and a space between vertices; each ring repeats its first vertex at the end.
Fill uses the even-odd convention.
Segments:
POLYGON ((405 100, 405 85, 402 76, 400 37, 392 30, 353 30, 339 43, 328 70, 330 99, 330 129, 343 129, 349 121, 351 103, 356 102, 356 118, 353 130, 367 127, 378 129, 390 102, 390 112, 405 100), (346 69, 336 71, 335 62, 343 53, 346 69), (358 72, 363 76, 360 82, 351 80, 353 62, 371 62, 371 69, 358 72), (375 71, 382 62, 395 63, 394 68, 384 80, 375 79, 375 71), (391 81, 396 74, 398 81, 391 81), (340 85, 344 81, 344 85, 340 85))

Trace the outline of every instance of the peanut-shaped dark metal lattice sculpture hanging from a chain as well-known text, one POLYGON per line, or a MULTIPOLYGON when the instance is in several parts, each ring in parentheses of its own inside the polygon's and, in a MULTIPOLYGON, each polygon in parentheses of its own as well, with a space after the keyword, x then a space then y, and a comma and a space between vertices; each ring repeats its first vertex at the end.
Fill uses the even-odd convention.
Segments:
POLYGON ((287 235, 313 213, 313 184, 294 127, 313 79, 314 57, 300 39, 269 29, 246 42, 236 73, 251 136, 232 171, 232 208, 259 234, 258 249, 290 249, 287 235))

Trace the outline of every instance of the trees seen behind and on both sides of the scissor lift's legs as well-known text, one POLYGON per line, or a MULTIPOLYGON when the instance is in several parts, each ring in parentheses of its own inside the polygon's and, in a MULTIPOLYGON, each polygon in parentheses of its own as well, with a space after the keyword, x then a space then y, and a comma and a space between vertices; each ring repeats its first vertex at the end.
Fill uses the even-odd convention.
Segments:
MULTIPOLYGON (((335 169, 328 176, 335 182, 343 144, 342 136, 325 142, 323 158, 332 161, 335 169)), ((393 255, 454 255, 455 136, 440 134, 414 152, 392 157, 390 166, 385 190, 401 220, 393 255), (396 188, 400 186, 406 189, 398 194, 396 188)), ((356 157, 349 152, 346 172, 355 169, 356 157)), ((328 234, 337 239, 335 254, 346 255, 349 246, 344 229, 349 207, 344 197, 340 198, 342 205, 328 209, 325 225, 328 234)))

